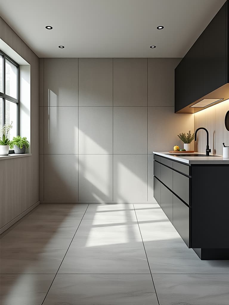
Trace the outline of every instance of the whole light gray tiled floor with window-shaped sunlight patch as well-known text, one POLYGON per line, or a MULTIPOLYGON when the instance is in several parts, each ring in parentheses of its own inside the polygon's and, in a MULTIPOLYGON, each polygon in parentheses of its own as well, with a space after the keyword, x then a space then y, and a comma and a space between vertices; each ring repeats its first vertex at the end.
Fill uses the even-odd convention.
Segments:
POLYGON ((1 305, 228 305, 157 203, 41 204, 1 237, 1 305))

